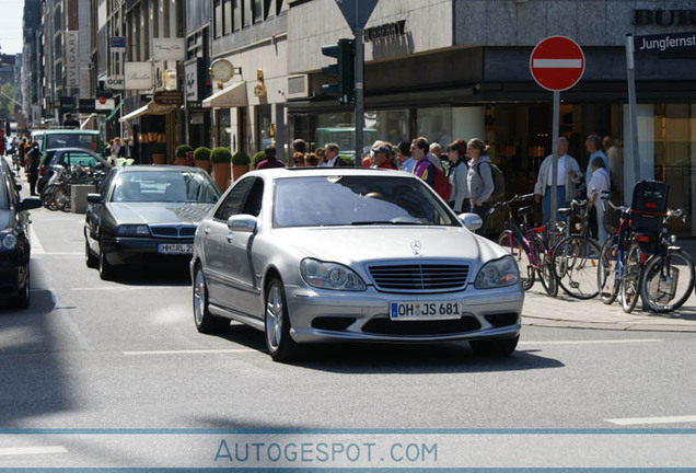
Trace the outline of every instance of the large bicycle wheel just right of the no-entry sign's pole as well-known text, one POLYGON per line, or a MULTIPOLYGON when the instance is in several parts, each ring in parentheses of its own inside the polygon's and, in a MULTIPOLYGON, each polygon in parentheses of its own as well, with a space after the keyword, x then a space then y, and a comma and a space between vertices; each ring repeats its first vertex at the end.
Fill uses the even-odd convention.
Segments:
POLYGON ((576 299, 592 299, 600 292, 596 268, 600 245, 582 236, 568 236, 554 249, 553 268, 560 288, 576 299))

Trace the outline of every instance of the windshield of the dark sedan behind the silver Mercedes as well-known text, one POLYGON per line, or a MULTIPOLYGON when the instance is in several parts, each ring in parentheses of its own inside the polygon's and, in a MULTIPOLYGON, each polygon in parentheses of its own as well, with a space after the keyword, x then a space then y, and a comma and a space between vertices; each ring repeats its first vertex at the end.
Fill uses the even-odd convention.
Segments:
POLYGON ((112 193, 112 201, 214 204, 218 189, 205 174, 188 171, 124 172, 112 193))

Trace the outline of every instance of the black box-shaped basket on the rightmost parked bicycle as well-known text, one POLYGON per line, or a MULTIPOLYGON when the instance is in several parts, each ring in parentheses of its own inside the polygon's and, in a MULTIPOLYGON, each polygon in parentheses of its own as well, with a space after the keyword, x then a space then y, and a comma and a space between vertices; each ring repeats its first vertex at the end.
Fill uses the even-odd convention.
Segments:
POLYGON ((660 233, 666 212, 670 186, 660 181, 640 181, 634 187, 630 205, 630 229, 636 233, 660 233))

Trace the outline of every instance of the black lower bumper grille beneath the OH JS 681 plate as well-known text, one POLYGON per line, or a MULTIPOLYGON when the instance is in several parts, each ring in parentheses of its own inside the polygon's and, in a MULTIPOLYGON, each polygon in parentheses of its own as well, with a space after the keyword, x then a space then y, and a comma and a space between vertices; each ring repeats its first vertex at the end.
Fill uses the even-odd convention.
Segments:
POLYGON ((448 335, 479 328, 480 323, 471 315, 445 321, 393 321, 378 318, 364 324, 362 332, 380 335, 448 335))

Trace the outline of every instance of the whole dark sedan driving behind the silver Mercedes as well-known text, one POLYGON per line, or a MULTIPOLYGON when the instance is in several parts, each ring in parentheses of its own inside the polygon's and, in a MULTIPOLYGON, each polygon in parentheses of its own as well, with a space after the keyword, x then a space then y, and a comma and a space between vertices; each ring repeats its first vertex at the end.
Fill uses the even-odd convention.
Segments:
POLYGON ((205 171, 171 165, 114 168, 88 195, 84 257, 102 279, 124 264, 190 261, 198 223, 220 198, 205 171))

